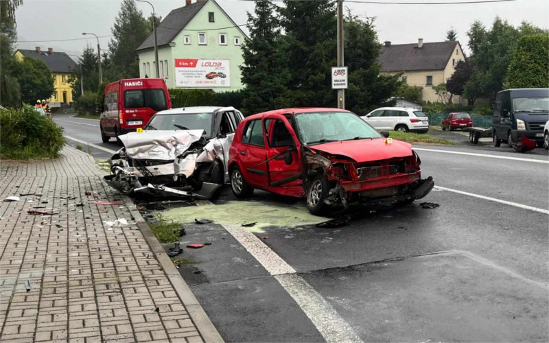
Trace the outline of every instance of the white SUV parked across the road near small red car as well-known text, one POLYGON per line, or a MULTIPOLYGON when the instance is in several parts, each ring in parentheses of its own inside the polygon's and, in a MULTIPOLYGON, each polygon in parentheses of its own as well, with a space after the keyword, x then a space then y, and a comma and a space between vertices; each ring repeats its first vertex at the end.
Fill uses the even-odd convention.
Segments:
POLYGON ((360 118, 377 130, 413 131, 419 133, 429 131, 428 117, 421 110, 415 108, 382 107, 360 118))

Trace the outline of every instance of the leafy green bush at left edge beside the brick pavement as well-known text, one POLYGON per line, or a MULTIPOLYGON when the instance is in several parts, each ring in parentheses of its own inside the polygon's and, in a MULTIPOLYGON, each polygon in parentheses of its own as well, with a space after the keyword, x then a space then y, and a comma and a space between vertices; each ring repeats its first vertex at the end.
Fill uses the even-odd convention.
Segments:
POLYGON ((53 158, 65 144, 63 129, 31 106, 0 110, 1 158, 53 158))

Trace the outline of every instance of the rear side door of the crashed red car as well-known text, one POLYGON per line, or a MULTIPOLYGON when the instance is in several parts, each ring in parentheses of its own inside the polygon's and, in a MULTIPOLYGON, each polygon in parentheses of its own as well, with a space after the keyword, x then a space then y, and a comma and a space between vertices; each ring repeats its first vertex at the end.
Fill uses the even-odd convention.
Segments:
POLYGON ((256 187, 267 187, 267 158, 261 119, 246 123, 238 153, 246 182, 256 187))

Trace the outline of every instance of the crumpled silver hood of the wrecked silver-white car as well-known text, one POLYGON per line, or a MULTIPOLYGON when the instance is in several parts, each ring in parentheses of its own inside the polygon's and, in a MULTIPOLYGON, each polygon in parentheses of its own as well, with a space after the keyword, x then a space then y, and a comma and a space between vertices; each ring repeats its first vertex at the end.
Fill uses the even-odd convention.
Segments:
POLYGON ((119 139, 128 157, 150 160, 175 160, 192 143, 199 141, 204 130, 150 130, 122 134, 119 139))

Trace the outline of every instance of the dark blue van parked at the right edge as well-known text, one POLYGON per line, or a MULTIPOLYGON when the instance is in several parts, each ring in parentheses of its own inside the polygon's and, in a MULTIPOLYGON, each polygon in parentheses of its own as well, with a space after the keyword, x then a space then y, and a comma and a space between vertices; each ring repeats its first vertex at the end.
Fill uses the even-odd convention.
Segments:
POLYGON ((549 120, 549 88, 522 88, 501 91, 493 106, 493 145, 506 141, 509 147, 522 135, 544 145, 544 125, 549 120))

